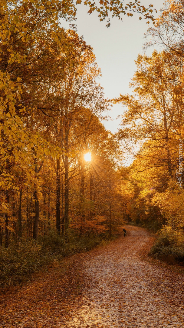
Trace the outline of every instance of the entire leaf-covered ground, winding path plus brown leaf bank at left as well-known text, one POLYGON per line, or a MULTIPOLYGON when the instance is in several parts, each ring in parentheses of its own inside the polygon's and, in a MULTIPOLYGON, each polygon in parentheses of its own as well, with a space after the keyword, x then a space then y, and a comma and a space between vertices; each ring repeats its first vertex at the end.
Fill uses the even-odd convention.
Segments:
POLYGON ((147 260, 148 232, 126 230, 1 295, 0 327, 183 328, 184 276, 147 260))

